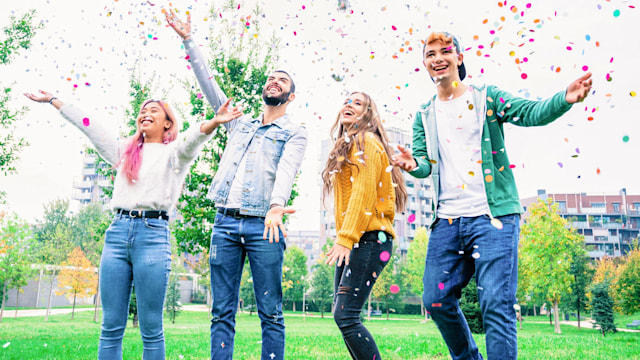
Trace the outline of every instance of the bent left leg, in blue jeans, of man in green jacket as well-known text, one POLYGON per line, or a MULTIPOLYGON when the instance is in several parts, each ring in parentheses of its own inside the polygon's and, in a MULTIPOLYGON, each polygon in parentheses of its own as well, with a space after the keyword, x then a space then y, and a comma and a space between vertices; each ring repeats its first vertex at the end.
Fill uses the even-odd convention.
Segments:
POLYGON ((467 320, 460 310, 462 288, 473 276, 473 262, 465 255, 461 219, 436 220, 424 269, 424 306, 435 321, 453 359, 481 359, 467 320))

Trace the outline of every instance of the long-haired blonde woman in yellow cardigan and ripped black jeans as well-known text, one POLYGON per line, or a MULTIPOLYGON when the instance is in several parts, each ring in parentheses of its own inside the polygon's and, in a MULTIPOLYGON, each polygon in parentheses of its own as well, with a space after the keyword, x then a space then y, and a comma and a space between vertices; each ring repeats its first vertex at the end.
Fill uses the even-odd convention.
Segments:
POLYGON ((360 312, 393 251, 393 218, 407 192, 371 97, 354 92, 345 100, 322 171, 324 194, 334 194, 336 241, 327 264, 336 264, 334 319, 353 359, 380 359, 360 312))

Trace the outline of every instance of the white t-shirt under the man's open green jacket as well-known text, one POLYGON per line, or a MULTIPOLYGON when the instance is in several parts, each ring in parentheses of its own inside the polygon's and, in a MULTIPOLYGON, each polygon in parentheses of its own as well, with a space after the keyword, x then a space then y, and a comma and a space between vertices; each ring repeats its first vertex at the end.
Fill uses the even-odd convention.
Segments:
POLYGON ((470 91, 448 101, 436 98, 440 218, 490 214, 482 174, 483 124, 472 104, 470 91))

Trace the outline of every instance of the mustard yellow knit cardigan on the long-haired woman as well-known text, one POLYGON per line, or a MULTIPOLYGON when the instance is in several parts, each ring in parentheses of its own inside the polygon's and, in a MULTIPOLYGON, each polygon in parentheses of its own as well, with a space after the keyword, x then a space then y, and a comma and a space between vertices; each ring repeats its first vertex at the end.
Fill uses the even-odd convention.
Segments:
POLYGON ((352 249, 362 234, 374 230, 385 231, 395 238, 395 190, 382 144, 367 132, 364 151, 354 144, 349 160, 355 167, 345 161, 333 178, 336 243, 352 249))

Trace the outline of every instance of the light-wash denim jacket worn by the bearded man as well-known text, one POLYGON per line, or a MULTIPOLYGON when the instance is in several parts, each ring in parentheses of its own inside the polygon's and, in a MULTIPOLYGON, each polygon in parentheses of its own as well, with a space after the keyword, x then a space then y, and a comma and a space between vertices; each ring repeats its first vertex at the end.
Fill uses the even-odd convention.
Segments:
MULTIPOLYGON (((198 83, 214 110, 227 100, 209 72, 207 62, 193 40, 184 41, 198 83)), ((224 124, 229 132, 218 172, 207 197, 225 204, 238 171, 244 171, 240 213, 265 216, 271 204, 286 205, 304 157, 307 130, 294 124, 288 115, 263 125, 262 116, 241 116, 224 124), (242 157, 246 167, 238 169, 242 157)))

